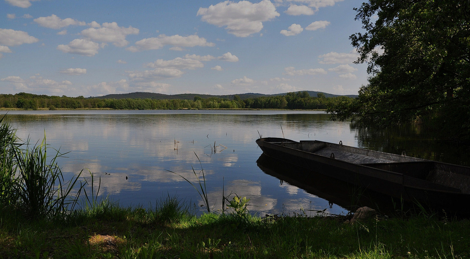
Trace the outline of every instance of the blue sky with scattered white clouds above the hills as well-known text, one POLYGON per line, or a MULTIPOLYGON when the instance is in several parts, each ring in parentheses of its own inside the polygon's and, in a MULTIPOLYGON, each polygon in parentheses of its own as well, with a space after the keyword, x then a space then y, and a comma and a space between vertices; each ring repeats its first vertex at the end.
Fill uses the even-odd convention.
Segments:
POLYGON ((357 94, 357 0, 0 0, 0 93, 357 94))

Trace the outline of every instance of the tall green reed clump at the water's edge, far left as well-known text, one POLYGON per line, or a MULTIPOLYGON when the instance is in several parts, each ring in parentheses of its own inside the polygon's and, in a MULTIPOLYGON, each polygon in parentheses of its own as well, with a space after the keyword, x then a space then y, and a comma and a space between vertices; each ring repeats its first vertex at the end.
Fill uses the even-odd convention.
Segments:
POLYGON ((0 120, 0 206, 20 211, 26 218, 65 217, 84 187, 78 181, 80 174, 64 180, 57 159, 65 154, 49 147, 46 137, 33 146, 29 141, 21 143, 4 118, 0 120), (50 149, 52 156, 47 155, 50 149), (74 189, 77 192, 72 194, 74 189))

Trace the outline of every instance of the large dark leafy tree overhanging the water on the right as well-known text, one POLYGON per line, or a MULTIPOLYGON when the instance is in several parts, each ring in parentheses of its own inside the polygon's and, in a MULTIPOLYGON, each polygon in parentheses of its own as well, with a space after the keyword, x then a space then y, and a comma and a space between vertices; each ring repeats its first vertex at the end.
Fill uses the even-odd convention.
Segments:
POLYGON ((355 10, 366 31, 350 37, 356 63, 368 63, 372 77, 354 102, 327 110, 332 118, 356 114, 379 126, 420 119, 468 137, 469 1, 369 0, 355 10))

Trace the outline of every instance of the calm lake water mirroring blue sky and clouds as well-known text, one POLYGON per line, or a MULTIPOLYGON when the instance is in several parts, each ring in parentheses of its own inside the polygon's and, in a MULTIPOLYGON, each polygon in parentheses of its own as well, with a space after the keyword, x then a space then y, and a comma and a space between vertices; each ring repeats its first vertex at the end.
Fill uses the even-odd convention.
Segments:
POLYGON ((232 192, 249 198, 250 211, 259 215, 300 213, 301 208, 306 213, 324 209, 347 213, 351 198, 341 193, 347 187, 321 176, 309 179, 315 188, 305 186, 302 179, 292 180, 295 168, 260 159, 262 151, 255 143, 259 135, 343 141, 396 154, 406 150, 408 156, 462 165, 469 161, 468 149, 458 151, 435 141, 419 126, 365 129, 350 122, 330 121, 323 111, 9 111, 8 121, 22 139, 35 143, 46 134, 52 147, 70 151, 67 158, 59 160, 64 175, 89 169, 101 177, 100 193, 124 206, 148 207, 162 196, 177 195, 204 211, 196 189, 166 171, 195 183, 192 168, 198 173, 202 165, 209 202, 215 209, 221 207, 223 188, 226 195, 232 192))

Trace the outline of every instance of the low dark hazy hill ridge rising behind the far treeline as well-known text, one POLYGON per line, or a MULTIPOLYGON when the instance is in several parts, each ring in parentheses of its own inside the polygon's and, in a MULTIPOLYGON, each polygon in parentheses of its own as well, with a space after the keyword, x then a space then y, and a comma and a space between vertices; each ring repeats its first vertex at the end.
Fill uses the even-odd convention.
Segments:
MULTIPOLYGON (((303 91, 300 91, 303 92, 303 91)), ((315 92, 315 91, 306 91, 310 96, 316 97, 318 93, 323 92, 315 92)), ((277 95, 286 95, 287 93, 282 94, 255 94, 255 93, 246 93, 246 94, 236 94, 242 98, 242 100, 249 99, 249 98, 257 98, 261 96, 277 96, 277 95)), ((342 96, 337 94, 328 94, 323 93, 326 97, 335 97, 335 96, 342 96)), ((210 97, 218 97, 218 98, 226 98, 229 100, 234 99, 235 94, 227 94, 227 95, 211 95, 211 94, 158 94, 158 93, 148 93, 148 92, 134 92, 129 94, 108 94, 103 96, 96 96, 96 97, 88 97, 88 98, 98 98, 98 99, 125 99, 125 98, 140 98, 140 99, 154 99, 154 100, 162 100, 162 99, 180 99, 180 100, 193 100, 194 96, 199 96, 202 98, 210 98, 210 97)), ((350 94, 344 95, 352 98, 356 98, 357 95, 350 94)))

